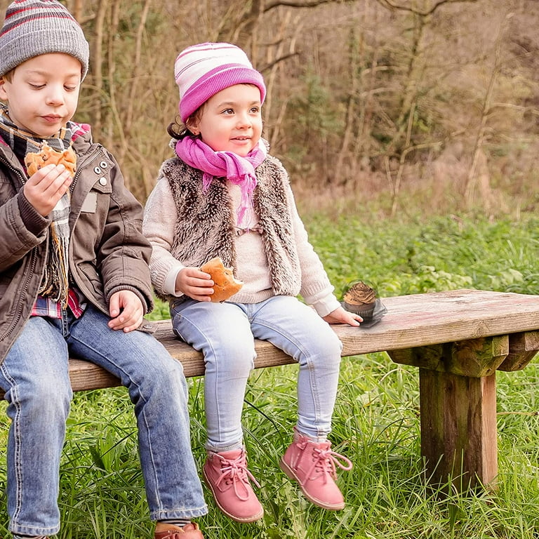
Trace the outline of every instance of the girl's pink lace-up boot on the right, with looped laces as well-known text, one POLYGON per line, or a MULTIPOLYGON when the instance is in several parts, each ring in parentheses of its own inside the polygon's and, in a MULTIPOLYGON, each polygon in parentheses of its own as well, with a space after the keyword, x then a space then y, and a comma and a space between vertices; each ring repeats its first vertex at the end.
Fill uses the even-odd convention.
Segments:
POLYGON ((329 510, 345 507, 345 500, 335 479, 335 465, 342 470, 352 470, 352 463, 345 456, 331 451, 329 441, 316 442, 294 432, 294 441, 281 458, 281 469, 300 484, 305 498, 329 510))

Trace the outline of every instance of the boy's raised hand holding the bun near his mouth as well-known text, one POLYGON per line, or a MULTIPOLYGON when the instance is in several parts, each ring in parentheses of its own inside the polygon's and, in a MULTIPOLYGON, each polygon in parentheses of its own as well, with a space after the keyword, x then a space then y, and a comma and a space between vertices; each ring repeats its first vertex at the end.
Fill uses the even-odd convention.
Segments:
POLYGON ((46 217, 65 195, 73 178, 63 165, 47 165, 32 174, 23 192, 36 211, 46 217))

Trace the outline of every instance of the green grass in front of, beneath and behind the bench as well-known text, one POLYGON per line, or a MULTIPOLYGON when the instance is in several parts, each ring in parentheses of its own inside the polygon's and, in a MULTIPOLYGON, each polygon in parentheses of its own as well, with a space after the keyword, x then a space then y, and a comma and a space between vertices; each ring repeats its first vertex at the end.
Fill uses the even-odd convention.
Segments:
MULTIPOLYGON (((450 288, 539 293, 535 273, 539 221, 430 222, 316 215, 306 220, 338 295, 366 279, 382 298, 450 288)), ((157 317, 167 316, 158 302, 157 317)), ((279 470, 295 422, 294 366, 255 371, 246 394, 244 427, 250 469, 265 517, 237 524, 207 493, 199 519, 206 539, 537 539, 539 537, 539 369, 498 373, 499 488, 444 497, 423 480, 418 373, 384 353, 343 360, 331 439, 352 459, 339 484, 347 507, 326 512, 309 503, 279 470)), ((189 379, 192 445, 204 460, 203 380, 189 379)), ((5 406, 3 404, 2 406, 5 406)), ((0 436, 8 422, 0 414, 0 436)), ((5 486, 5 462, 0 462, 5 486)), ((1 488, 4 493, 4 488, 1 488)), ((131 404, 123 388, 78 393, 61 469, 60 538, 149 538, 144 486, 131 404)), ((8 535, 5 495, 0 537, 8 535)))

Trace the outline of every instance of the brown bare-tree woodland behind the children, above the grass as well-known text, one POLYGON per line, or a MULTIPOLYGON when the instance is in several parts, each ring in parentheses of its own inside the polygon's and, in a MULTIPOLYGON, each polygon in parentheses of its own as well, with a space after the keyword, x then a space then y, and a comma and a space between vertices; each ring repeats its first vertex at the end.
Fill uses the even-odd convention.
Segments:
POLYGON ((176 55, 229 41, 265 76, 264 136, 300 197, 387 215, 539 204, 538 0, 65 4, 91 44, 76 119, 142 202, 172 154, 176 55))

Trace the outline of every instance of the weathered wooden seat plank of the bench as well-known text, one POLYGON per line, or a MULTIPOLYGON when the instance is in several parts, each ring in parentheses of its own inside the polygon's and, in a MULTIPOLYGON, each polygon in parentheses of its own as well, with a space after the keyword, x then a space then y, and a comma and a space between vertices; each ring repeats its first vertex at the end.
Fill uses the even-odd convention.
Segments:
MULTIPOLYGON (((387 313, 372 328, 332 326, 343 344, 342 356, 402 350, 446 342, 539 330, 539 296, 477 290, 457 290, 382 299, 387 313)), ((182 362, 186 376, 204 373, 202 354, 172 333, 168 320, 154 322, 156 336, 182 362)), ((539 333, 536 333, 538 335, 539 333)), ((514 339, 524 350, 533 338, 514 339)), ((539 343, 539 338, 535 337, 539 343)), ((268 342, 256 343, 257 368, 292 363, 292 359, 268 342)), ((510 354, 509 354, 510 355, 510 354)), ((528 350, 527 361, 534 350, 528 350)), ((522 368, 521 354, 512 357, 505 370, 522 368)), ((503 364, 499 367, 503 368, 503 364)), ((118 385, 118 380, 86 361, 72 360, 70 375, 75 391, 118 385)))

